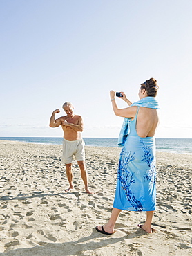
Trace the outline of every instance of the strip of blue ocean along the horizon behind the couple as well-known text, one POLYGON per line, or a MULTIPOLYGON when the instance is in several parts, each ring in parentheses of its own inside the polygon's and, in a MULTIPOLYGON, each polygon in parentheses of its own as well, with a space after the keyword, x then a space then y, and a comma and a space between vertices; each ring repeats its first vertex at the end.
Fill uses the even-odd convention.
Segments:
MULTIPOLYGON (((27 143, 61 145, 63 138, 0 137, 0 140, 15 140, 27 143)), ((192 138, 155 138, 157 151, 192 154, 192 138)), ((86 146, 117 147, 117 138, 84 138, 86 146)))

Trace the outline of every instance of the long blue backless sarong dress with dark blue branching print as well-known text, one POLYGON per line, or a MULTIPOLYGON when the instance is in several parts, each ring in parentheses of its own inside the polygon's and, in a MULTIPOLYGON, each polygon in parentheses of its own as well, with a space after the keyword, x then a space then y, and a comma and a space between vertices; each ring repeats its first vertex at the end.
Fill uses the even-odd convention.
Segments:
MULTIPOLYGON (((144 104, 137 106, 145 107, 144 104)), ((158 107, 154 104, 150 108, 158 107)), ((138 110, 139 107, 137 113, 138 110)), ((113 207, 121 210, 153 211, 156 205, 155 138, 141 138, 137 135, 137 113, 133 121, 125 118, 126 122, 120 133, 123 138, 122 152, 113 207)))

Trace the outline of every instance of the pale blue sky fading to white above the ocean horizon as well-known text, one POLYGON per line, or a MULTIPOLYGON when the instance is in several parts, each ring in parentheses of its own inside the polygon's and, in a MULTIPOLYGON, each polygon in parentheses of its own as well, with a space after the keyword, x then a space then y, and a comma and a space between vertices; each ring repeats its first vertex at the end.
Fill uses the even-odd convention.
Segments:
POLYGON ((0 0, 0 136, 63 136, 49 120, 68 101, 84 138, 117 138, 109 91, 135 102, 154 77, 155 137, 192 138, 191 11, 191 0, 0 0))

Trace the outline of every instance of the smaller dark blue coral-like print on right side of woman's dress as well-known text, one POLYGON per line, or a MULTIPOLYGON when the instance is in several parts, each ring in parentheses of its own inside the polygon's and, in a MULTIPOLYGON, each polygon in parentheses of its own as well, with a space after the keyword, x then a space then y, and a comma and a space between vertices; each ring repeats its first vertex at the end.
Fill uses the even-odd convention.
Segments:
POLYGON ((151 181, 151 183, 155 183, 156 167, 154 156, 151 152, 151 148, 145 145, 144 140, 141 139, 140 142, 143 145, 142 149, 144 151, 144 155, 142 156, 143 159, 141 161, 145 161, 146 163, 148 163, 148 169, 144 174, 144 181, 151 181))

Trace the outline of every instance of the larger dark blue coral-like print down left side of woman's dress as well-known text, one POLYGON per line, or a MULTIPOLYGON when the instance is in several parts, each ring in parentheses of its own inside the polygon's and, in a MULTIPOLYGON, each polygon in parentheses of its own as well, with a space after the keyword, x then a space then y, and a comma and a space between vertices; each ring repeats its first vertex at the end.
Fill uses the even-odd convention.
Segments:
POLYGON ((135 152, 131 154, 131 152, 126 152, 124 147, 122 148, 122 152, 119 158, 119 167, 117 179, 122 184, 122 189, 125 191, 126 199, 128 202, 135 208, 136 211, 140 212, 143 210, 142 203, 135 199, 133 192, 131 191, 131 184, 135 183, 134 173, 128 171, 128 164, 135 159, 135 152))

